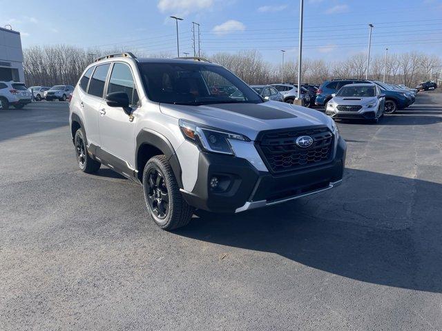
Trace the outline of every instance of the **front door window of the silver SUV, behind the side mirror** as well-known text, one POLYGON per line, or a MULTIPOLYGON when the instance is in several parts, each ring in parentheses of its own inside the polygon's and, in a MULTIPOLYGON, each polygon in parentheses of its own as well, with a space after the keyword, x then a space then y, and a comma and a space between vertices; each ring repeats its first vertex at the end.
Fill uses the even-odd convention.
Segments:
POLYGON ((131 101, 131 106, 135 106, 139 100, 131 68, 126 64, 115 63, 113 65, 111 79, 109 79, 108 93, 113 92, 126 92, 129 101, 131 101))

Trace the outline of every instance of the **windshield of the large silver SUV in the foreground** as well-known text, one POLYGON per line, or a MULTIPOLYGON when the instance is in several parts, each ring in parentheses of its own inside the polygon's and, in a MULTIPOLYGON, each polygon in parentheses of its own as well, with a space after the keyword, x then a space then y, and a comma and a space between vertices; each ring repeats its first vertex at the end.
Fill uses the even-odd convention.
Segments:
POLYGON ((262 99, 229 70, 202 63, 140 63, 151 101, 183 105, 262 103, 262 99))

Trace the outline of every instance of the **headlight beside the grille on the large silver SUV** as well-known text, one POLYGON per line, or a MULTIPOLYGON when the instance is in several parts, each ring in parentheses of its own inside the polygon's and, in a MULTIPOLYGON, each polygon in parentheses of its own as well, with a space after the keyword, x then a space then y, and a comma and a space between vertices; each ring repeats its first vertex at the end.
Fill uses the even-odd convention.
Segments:
POLYGON ((230 154, 233 150, 229 140, 250 141, 242 134, 228 132, 217 128, 202 126, 198 123, 180 119, 180 129, 184 138, 207 152, 230 154))

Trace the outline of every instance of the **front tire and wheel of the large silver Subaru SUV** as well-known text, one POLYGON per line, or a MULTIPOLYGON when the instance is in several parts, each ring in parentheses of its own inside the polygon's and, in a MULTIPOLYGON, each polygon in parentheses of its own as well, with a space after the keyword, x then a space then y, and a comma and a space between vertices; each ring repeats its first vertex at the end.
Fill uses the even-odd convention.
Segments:
POLYGON ((152 157, 144 166, 143 192, 149 214, 163 230, 182 228, 191 221, 194 208, 184 201, 164 155, 152 157))

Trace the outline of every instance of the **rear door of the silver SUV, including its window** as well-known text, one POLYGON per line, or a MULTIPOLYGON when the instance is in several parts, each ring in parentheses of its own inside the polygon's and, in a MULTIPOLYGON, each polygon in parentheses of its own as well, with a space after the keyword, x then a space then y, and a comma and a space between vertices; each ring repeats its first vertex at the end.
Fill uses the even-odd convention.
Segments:
POLYGON ((95 146, 101 146, 99 137, 99 110, 103 108, 103 93, 106 77, 108 76, 111 63, 96 66, 95 70, 90 68, 80 79, 80 88, 87 89, 80 101, 80 108, 84 114, 84 127, 86 130, 86 139, 88 144, 93 143, 95 146), (91 71, 92 71, 91 70, 91 71), (90 76, 90 81, 87 76, 90 76))

